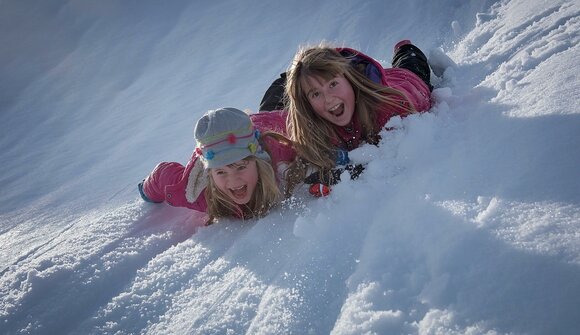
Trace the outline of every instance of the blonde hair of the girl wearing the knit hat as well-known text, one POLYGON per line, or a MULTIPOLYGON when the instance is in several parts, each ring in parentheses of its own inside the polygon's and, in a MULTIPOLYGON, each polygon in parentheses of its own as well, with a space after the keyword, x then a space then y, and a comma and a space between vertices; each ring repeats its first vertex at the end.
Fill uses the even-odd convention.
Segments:
MULTIPOLYGON (((264 147, 264 149, 266 148, 264 147)), ((270 162, 256 156, 248 156, 244 160, 255 161, 258 169, 258 182, 250 201, 245 205, 236 204, 228 195, 217 188, 211 173, 208 173, 208 186, 205 190, 209 216, 208 224, 216 222, 221 217, 233 216, 242 219, 263 217, 281 201, 282 194, 270 162)))

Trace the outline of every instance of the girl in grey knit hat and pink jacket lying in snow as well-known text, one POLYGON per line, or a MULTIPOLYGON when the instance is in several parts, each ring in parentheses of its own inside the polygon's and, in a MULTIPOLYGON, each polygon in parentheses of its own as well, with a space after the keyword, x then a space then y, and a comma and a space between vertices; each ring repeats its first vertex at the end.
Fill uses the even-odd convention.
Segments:
POLYGON ((282 199, 284 173, 295 157, 282 135, 285 121, 281 111, 209 111, 195 126, 197 146, 188 164, 158 164, 139 184, 141 197, 206 212, 208 224, 264 216, 282 199))

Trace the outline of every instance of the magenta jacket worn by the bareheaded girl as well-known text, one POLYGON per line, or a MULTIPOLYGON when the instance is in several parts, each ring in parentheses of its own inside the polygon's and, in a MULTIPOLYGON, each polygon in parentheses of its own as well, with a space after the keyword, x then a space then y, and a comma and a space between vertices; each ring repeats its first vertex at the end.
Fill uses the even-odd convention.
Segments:
MULTIPOLYGON (((401 99, 398 96, 394 97, 401 104, 401 108, 385 106, 378 111, 375 120, 377 129, 384 127, 393 116, 407 116, 409 113, 404 107, 408 107, 409 104, 418 112, 424 112, 431 108, 431 92, 429 87, 413 72, 402 68, 384 69, 376 60, 354 49, 338 48, 337 50, 343 56, 352 58, 355 63, 368 64, 365 74, 369 79, 397 89, 407 97, 407 100, 401 99)), ((342 146, 343 149, 349 151, 355 149, 363 140, 362 129, 356 115, 353 117, 351 125, 345 127, 335 126, 335 130, 339 136, 337 144, 342 146)))

